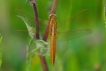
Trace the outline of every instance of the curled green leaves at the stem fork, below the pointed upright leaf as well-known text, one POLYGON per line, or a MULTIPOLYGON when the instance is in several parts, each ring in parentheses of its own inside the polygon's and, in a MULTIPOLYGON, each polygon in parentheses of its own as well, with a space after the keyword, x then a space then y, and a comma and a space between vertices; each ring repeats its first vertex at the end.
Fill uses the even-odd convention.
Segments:
POLYGON ((43 40, 33 40, 31 39, 29 41, 29 44, 27 46, 27 55, 26 55, 26 70, 30 71, 31 70, 31 65, 32 65, 32 60, 35 55, 42 55, 45 56, 47 53, 47 43, 44 42, 43 40), (32 43, 35 43, 36 48, 30 49, 32 43))

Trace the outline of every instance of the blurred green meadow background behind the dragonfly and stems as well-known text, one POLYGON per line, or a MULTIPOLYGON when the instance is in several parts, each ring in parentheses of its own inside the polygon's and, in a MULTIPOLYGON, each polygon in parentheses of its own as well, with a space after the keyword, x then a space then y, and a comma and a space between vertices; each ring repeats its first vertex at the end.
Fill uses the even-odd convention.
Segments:
MULTIPOLYGON (((37 0, 40 31, 44 31, 53 0, 37 0), (45 26, 45 27, 44 27, 45 26)), ((33 15, 29 0, 0 0, 0 33, 2 40, 2 71, 25 71, 26 46, 29 35, 27 32, 16 33, 15 30, 27 30, 24 22, 16 15, 21 8, 33 15)), ((92 34, 66 41, 64 46, 57 44, 55 66, 50 56, 46 56, 50 71, 106 71, 104 56, 104 11, 102 0, 59 0, 56 11, 59 31, 91 29, 92 34), (70 21, 77 12, 78 14, 70 21), (62 23, 64 22, 64 23, 62 23), (60 26, 60 27, 59 27, 60 26)), ((38 55, 32 60, 30 71, 43 71, 38 55)))

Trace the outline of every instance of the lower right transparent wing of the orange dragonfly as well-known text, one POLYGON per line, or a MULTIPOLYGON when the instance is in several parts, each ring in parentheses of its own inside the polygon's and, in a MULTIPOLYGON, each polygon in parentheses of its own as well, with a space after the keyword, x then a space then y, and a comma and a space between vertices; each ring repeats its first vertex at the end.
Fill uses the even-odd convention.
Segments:
POLYGON ((58 41, 67 41, 72 40, 75 38, 79 38, 82 36, 86 36, 92 33, 90 29, 83 29, 83 30, 74 30, 74 31, 67 31, 67 32, 59 32, 58 41))

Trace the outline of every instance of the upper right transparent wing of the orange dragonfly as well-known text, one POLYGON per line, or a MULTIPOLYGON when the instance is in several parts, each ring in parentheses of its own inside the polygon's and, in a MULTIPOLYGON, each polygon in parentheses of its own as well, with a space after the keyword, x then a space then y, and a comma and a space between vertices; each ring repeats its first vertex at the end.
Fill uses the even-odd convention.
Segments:
MULTIPOLYGON (((87 25, 90 24, 89 11, 87 9, 80 10, 78 12, 72 12, 71 15, 63 17, 64 21, 60 21, 58 24, 58 30, 64 31, 66 28, 71 30, 81 29, 81 27, 87 28, 87 25)), ((59 19, 57 18, 57 21, 59 19)))

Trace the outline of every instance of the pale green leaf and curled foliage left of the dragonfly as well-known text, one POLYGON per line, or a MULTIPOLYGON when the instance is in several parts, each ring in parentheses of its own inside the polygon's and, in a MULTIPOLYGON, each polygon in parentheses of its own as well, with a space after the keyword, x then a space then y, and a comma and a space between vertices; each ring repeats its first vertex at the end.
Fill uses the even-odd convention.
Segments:
POLYGON ((31 37, 31 40, 29 41, 29 44, 27 45, 27 55, 26 55, 26 70, 27 71, 30 71, 31 70, 31 65, 32 65, 32 60, 35 56, 35 54, 38 54, 38 55, 42 55, 42 56, 45 56, 46 53, 47 53, 47 43, 43 40, 34 40, 34 36, 35 36, 35 30, 32 26, 30 26, 30 21, 27 19, 27 17, 24 17, 24 16, 19 16, 19 18, 21 18, 26 27, 27 27, 27 30, 29 32, 29 36, 31 37), (36 45, 36 48, 34 49, 30 49, 32 43, 35 43, 36 45))

